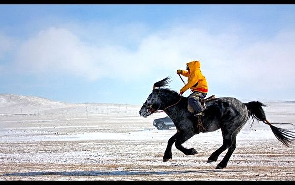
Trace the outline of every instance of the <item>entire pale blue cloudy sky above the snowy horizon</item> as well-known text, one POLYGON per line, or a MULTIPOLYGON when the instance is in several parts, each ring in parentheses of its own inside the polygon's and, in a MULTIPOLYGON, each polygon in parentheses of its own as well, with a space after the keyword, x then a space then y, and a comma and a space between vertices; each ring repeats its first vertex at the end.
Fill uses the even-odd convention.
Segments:
POLYGON ((295 100, 295 5, 0 5, 0 20, 0 93, 141 105, 199 60, 208 96, 295 100))

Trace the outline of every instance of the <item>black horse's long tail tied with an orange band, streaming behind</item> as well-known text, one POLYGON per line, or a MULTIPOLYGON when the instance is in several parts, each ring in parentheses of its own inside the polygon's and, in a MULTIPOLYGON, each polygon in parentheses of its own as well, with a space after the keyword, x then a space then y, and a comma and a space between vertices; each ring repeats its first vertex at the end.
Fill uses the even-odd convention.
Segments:
MULTIPOLYGON (((262 109, 263 106, 266 106, 265 104, 259 101, 251 101, 251 102, 245 103, 245 105, 247 106, 249 114, 252 117, 252 120, 253 120, 252 124, 255 118, 256 120, 262 121, 263 123, 269 125, 275 137, 287 147, 290 147, 290 144, 292 144, 295 141, 295 135, 294 135, 295 132, 273 126, 273 124, 291 124, 291 123, 270 123, 267 121, 265 112, 262 109)), ((250 119, 250 116, 249 116, 249 119, 250 119)))

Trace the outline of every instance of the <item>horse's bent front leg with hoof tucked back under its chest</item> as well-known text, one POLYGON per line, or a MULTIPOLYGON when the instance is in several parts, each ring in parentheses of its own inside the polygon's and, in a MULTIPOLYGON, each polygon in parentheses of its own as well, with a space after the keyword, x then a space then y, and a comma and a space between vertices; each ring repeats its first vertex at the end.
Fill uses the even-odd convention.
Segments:
POLYGON ((182 146, 182 143, 184 143, 185 141, 187 141, 188 139, 190 139, 192 136, 194 136, 195 133, 192 132, 181 132, 177 135, 176 137, 176 141, 175 141, 175 147, 180 150, 181 152, 183 152, 185 155, 194 155, 197 154, 197 150, 195 150, 194 148, 184 148, 182 146))

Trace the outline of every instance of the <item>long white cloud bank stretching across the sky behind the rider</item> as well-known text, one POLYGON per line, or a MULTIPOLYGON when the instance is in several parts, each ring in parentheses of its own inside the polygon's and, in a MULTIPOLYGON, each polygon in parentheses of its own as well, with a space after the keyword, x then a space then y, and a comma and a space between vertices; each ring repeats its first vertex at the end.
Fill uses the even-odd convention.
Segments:
MULTIPOLYGON (((23 43, 17 61, 30 72, 130 80, 172 71, 174 74, 177 69, 185 69, 185 63, 199 60, 207 79, 224 87, 251 84, 253 88, 274 88, 285 82, 294 86, 294 32, 247 44, 242 37, 178 26, 147 35, 136 49, 128 49, 119 44, 84 43, 70 30, 50 28, 23 43)), ((138 42, 138 36, 136 39, 138 42)))

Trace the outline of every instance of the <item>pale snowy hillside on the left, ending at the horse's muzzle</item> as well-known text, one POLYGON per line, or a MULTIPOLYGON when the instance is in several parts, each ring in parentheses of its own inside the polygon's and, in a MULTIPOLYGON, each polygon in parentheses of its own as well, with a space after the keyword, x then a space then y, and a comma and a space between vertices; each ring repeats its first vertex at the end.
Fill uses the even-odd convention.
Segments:
MULTIPOLYGON (((42 115, 55 117, 94 118, 101 116, 139 117, 141 106, 106 103, 66 103, 56 102, 42 97, 0 94, 0 115, 42 115)), ((157 114, 161 116, 163 114, 157 114)))

